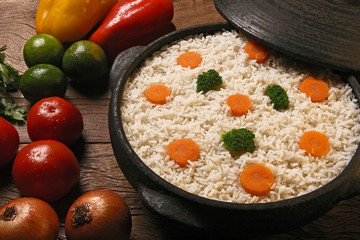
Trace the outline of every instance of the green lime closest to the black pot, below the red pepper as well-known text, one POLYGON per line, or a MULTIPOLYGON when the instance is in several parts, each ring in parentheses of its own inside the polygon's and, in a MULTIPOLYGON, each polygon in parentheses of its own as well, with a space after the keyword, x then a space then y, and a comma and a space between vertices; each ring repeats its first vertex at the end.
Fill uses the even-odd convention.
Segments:
POLYGON ((65 74, 76 83, 94 83, 108 77, 109 68, 104 50, 96 43, 81 40, 73 43, 64 53, 65 74))

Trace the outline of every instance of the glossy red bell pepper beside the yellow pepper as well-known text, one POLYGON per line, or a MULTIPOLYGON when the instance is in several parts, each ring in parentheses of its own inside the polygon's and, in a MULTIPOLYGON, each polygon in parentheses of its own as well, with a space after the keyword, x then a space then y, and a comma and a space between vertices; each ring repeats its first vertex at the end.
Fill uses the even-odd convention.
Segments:
POLYGON ((174 31, 173 16, 172 0, 120 0, 89 40, 99 44, 112 62, 121 51, 174 31))

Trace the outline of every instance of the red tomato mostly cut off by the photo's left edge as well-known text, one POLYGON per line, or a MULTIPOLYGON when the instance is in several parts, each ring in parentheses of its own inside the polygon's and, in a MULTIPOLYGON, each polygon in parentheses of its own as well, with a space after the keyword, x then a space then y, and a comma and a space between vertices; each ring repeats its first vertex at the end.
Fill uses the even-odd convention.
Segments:
POLYGON ((19 133, 16 128, 0 117, 0 167, 9 164, 19 149, 19 133))

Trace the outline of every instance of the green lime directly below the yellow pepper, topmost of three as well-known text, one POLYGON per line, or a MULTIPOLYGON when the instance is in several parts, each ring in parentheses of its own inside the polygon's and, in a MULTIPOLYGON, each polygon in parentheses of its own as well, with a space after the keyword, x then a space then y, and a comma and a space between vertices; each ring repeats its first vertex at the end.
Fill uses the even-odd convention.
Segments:
POLYGON ((61 42, 49 34, 37 34, 24 46, 23 56, 28 67, 47 63, 61 67, 64 47, 61 42))

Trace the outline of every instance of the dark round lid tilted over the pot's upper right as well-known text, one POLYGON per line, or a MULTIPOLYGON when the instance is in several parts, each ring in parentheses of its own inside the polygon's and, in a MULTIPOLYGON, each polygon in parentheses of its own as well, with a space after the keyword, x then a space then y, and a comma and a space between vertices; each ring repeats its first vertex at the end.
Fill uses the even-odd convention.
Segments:
POLYGON ((238 30, 297 59, 360 71, 360 0, 214 0, 238 30))

